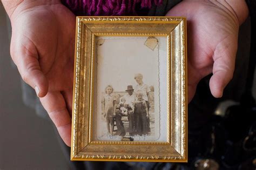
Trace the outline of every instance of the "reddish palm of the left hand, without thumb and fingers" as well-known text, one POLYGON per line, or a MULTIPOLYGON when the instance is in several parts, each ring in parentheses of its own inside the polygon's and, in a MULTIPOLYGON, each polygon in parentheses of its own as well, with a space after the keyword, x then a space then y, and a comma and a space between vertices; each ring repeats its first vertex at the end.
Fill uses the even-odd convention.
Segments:
POLYGON ((19 16, 31 55, 38 57, 49 81, 49 91, 64 91, 72 85, 75 16, 63 5, 36 7, 19 16), (56 9, 56 10, 55 10, 56 9), (55 12, 57 11, 57 12, 55 12), (28 20, 29 18, 29 20, 28 20))

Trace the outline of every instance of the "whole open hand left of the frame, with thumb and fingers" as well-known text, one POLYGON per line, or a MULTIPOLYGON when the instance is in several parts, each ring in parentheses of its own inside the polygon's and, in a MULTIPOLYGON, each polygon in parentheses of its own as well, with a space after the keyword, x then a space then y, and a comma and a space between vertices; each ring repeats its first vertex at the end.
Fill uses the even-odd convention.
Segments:
POLYGON ((60 1, 3 4, 11 19, 11 57, 70 146, 76 17, 60 1))

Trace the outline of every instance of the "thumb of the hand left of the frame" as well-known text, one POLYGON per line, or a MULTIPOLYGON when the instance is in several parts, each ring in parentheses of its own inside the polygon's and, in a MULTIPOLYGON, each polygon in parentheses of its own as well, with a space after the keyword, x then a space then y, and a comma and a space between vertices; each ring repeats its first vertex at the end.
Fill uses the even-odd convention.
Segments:
POLYGON ((11 57, 22 79, 35 89, 38 97, 44 97, 48 92, 48 79, 41 71, 36 47, 26 38, 19 39, 12 38, 11 57))

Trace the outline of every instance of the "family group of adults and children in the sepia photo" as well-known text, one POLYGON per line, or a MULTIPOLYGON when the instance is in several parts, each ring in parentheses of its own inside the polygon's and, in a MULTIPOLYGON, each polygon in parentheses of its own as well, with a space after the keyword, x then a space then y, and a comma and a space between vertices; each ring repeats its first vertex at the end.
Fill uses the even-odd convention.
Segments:
POLYGON ((113 87, 107 85, 105 94, 102 98, 102 114, 106 119, 107 132, 113 135, 114 122, 116 122, 116 135, 147 135, 150 133, 150 114, 149 114, 149 92, 148 85, 143 83, 143 75, 134 75, 137 85, 128 85, 126 94, 117 101, 113 94, 113 87), (125 131, 122 117, 127 117, 129 126, 125 131))

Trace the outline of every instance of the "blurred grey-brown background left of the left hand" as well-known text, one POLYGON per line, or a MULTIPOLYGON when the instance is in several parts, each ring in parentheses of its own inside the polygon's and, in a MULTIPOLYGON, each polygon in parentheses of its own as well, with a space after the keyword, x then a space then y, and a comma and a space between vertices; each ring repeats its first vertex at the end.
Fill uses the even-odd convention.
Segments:
POLYGON ((69 169, 51 121, 22 101, 10 57, 11 26, 0 2, 0 169, 69 169))

